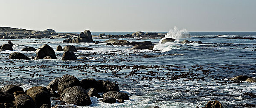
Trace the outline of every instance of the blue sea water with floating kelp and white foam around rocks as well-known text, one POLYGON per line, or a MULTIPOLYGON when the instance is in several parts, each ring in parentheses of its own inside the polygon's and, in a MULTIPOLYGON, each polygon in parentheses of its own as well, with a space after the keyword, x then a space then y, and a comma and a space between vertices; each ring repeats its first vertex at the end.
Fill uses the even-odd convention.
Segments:
MULTIPOLYGON (((238 75, 255 77, 256 39, 230 39, 240 37, 255 38, 252 35, 192 35, 187 40, 200 40, 204 44, 167 43, 160 46, 163 51, 131 50, 132 46, 113 46, 93 43, 62 43, 61 39, 10 39, 14 51, 0 52, 0 86, 20 85, 25 90, 32 86, 46 86, 64 74, 71 74, 79 80, 95 78, 97 80, 117 81, 123 92, 129 93, 130 100, 125 103, 105 104, 98 98, 91 98, 93 104, 79 107, 135 107, 149 108, 195 108, 202 107, 210 100, 220 101, 224 107, 245 107, 245 103, 254 103, 255 98, 243 95, 256 93, 256 83, 217 83, 238 75), (85 56, 87 61, 63 61, 62 51, 56 51, 56 60, 9 60, 11 52, 22 52, 26 56, 36 56, 35 52, 23 52, 25 46, 38 48, 48 43, 54 50, 57 45, 94 48, 91 51, 75 52, 76 56, 85 56), (145 54, 153 58, 143 58, 145 54), (65 65, 63 67, 63 65, 65 65), (72 66, 82 65, 80 69, 72 66), (122 68, 111 70, 105 65, 119 65, 122 68), (127 68, 131 66, 131 68, 127 68), (156 68, 153 68, 156 66, 156 68), (92 67, 96 67, 92 68, 92 67), (123 68, 125 67, 125 68, 123 68), (146 67, 146 68, 143 68, 146 67), (131 73, 137 70, 136 73, 131 73), (112 71, 115 71, 112 73, 112 71), (30 74, 35 74, 31 77, 30 74), (87 73, 87 75, 82 75, 87 73), (150 73, 146 75, 146 73, 150 73), (8 75, 9 74, 9 75, 8 75), (42 77, 36 76, 43 75, 42 77), (185 77, 172 76, 188 74, 185 77), (10 77, 11 75, 11 77, 10 77), (139 76, 138 76, 139 75, 139 76), (189 76, 189 77, 188 77, 189 76), (146 77, 148 79, 146 79, 146 77), (150 79, 151 77, 151 79, 150 79), (139 79, 138 79, 139 78, 139 79), (143 78, 143 80, 141 80, 143 78)), ((143 39, 126 39, 145 41, 143 39)), ((94 41, 107 39, 94 39, 94 41)), ((157 44, 160 39, 148 39, 157 44)), ((184 40, 184 39, 180 39, 184 40)), ((0 41, 0 44, 8 40, 0 41)), ((118 66, 114 66, 118 67, 118 66)), ((52 105, 54 105, 52 101, 52 105)), ((73 106, 73 105, 66 105, 73 106)), ((78 106, 77 106, 78 107, 78 106)))

